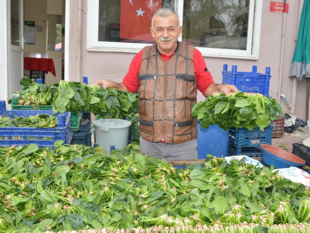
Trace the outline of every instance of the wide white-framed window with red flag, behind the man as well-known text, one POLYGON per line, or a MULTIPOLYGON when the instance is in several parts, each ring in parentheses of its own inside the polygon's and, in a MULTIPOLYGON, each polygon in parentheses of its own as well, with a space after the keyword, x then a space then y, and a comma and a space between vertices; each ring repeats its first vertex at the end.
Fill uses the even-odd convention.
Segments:
POLYGON ((153 44, 151 19, 168 7, 183 26, 179 41, 203 56, 257 59, 262 6, 260 0, 88 1, 88 50, 138 52, 153 44))

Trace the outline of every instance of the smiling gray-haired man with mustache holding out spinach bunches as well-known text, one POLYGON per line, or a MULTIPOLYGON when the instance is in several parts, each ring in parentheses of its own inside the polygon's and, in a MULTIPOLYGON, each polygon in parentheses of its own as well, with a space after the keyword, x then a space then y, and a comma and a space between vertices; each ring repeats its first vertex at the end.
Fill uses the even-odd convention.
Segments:
POLYGON ((156 43, 132 60, 123 83, 100 79, 94 84, 139 93, 140 153, 160 159, 197 159, 197 119, 190 116, 197 88, 205 97, 237 91, 216 84, 202 54, 178 42, 182 26, 170 9, 155 13, 150 28, 156 43))

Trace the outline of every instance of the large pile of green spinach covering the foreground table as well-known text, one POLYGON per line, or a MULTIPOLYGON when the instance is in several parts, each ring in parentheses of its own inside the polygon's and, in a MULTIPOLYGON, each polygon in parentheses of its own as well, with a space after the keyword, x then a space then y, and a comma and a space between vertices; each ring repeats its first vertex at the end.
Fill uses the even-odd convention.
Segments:
POLYGON ((1 232, 251 233, 299 222, 309 230, 309 188, 273 167, 208 155, 204 167, 178 169, 129 150, 62 143, 0 148, 1 232))

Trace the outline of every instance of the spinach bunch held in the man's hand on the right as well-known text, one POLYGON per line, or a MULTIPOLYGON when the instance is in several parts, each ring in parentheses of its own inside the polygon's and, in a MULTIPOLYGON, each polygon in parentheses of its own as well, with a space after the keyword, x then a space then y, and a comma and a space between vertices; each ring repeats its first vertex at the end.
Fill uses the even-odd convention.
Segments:
POLYGON ((192 117, 200 119, 203 128, 218 124, 224 130, 231 127, 263 130, 282 109, 275 99, 258 93, 213 94, 193 106, 192 117))

